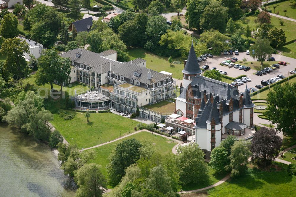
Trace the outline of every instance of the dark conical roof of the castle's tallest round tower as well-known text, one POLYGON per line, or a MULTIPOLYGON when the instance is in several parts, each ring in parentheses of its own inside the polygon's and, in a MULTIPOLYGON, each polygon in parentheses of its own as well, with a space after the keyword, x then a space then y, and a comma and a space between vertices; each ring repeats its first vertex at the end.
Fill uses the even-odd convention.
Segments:
POLYGON ((197 75, 202 73, 202 70, 200 70, 200 65, 198 64, 196 54, 194 51, 193 40, 191 43, 191 48, 188 54, 187 62, 182 72, 188 75, 197 75))

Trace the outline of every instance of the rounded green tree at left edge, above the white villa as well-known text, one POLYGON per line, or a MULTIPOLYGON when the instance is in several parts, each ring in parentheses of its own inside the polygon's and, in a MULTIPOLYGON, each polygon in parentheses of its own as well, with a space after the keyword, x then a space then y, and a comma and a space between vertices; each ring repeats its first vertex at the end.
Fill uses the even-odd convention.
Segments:
POLYGON ((11 14, 5 14, 3 20, 1 20, 0 34, 4 38, 14 38, 18 35, 17 29, 17 17, 11 14))

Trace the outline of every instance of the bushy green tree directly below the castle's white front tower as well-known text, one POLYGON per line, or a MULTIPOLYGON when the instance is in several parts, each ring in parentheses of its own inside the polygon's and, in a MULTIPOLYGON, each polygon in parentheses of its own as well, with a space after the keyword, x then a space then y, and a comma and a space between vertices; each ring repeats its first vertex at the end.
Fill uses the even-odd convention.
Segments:
POLYGON ((204 153, 196 143, 178 146, 176 167, 180 181, 184 184, 204 183, 208 180, 208 167, 204 162, 204 153))

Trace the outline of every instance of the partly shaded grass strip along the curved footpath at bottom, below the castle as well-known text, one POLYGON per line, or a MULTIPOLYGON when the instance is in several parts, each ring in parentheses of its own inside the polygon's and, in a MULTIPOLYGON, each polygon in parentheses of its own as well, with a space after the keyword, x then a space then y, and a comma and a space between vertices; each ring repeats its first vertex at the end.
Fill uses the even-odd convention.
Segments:
POLYGON ((209 181, 207 183, 183 185, 182 190, 187 191, 187 190, 196 190, 200 188, 205 188, 207 187, 207 185, 213 185, 217 183, 219 180, 221 180, 225 176, 226 176, 225 173, 216 174, 213 168, 209 168, 209 181))

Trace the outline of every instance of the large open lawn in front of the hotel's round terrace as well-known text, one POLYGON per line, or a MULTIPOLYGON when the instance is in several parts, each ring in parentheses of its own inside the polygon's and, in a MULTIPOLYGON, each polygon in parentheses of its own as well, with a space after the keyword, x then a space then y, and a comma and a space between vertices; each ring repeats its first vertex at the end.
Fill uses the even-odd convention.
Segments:
POLYGON ((72 112, 76 116, 72 120, 64 120, 54 114, 52 125, 70 144, 79 148, 87 148, 119 138, 134 132, 137 123, 134 120, 113 113, 94 113, 87 122, 85 113, 72 112), (72 139, 73 138, 73 139, 72 139))

